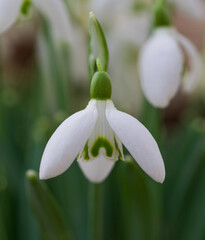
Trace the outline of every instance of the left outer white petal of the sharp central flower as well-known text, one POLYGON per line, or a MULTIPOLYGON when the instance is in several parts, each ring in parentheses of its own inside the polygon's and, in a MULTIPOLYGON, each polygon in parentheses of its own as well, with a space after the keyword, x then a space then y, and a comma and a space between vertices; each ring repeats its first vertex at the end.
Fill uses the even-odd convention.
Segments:
POLYGON ((97 120, 95 100, 67 118, 48 141, 40 165, 40 179, 55 177, 70 167, 83 149, 97 120))

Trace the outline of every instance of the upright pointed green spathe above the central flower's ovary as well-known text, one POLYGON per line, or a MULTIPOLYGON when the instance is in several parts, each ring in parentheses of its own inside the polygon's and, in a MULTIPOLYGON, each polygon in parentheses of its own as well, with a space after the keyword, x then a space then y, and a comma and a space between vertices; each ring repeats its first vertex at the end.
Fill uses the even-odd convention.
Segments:
POLYGON ((106 39, 103 30, 97 18, 90 12, 89 14, 89 74, 92 79, 94 73, 97 71, 96 59, 100 58, 102 70, 107 71, 109 53, 106 39))

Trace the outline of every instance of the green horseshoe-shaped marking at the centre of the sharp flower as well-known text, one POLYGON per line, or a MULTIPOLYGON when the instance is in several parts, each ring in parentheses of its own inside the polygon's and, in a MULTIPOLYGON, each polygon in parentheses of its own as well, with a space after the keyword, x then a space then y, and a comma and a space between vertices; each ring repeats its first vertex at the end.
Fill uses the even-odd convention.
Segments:
POLYGON ((108 157, 112 157, 113 154, 113 146, 109 142, 108 139, 104 137, 98 137, 96 141, 94 142, 92 148, 91 148, 91 154, 93 157, 97 157, 99 155, 100 149, 104 148, 106 151, 106 155, 108 157))

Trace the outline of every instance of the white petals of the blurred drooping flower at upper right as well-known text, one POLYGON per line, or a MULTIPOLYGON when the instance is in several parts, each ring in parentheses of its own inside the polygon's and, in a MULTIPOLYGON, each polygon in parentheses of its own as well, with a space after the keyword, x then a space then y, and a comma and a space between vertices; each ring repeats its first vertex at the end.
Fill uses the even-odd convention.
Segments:
POLYGON ((196 87, 201 71, 201 58, 196 47, 172 28, 157 28, 140 53, 142 89, 155 107, 167 107, 181 85, 190 93, 196 87))

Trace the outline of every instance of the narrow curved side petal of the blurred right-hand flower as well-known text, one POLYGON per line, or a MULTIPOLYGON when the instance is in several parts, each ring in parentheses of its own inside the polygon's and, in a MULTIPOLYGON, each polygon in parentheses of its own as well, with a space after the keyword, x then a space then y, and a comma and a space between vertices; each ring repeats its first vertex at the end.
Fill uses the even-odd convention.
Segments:
POLYGON ((176 37, 188 57, 190 70, 185 73, 183 87, 184 90, 189 93, 196 87, 202 75, 202 59, 198 50, 189 39, 180 33, 178 33, 176 37))

